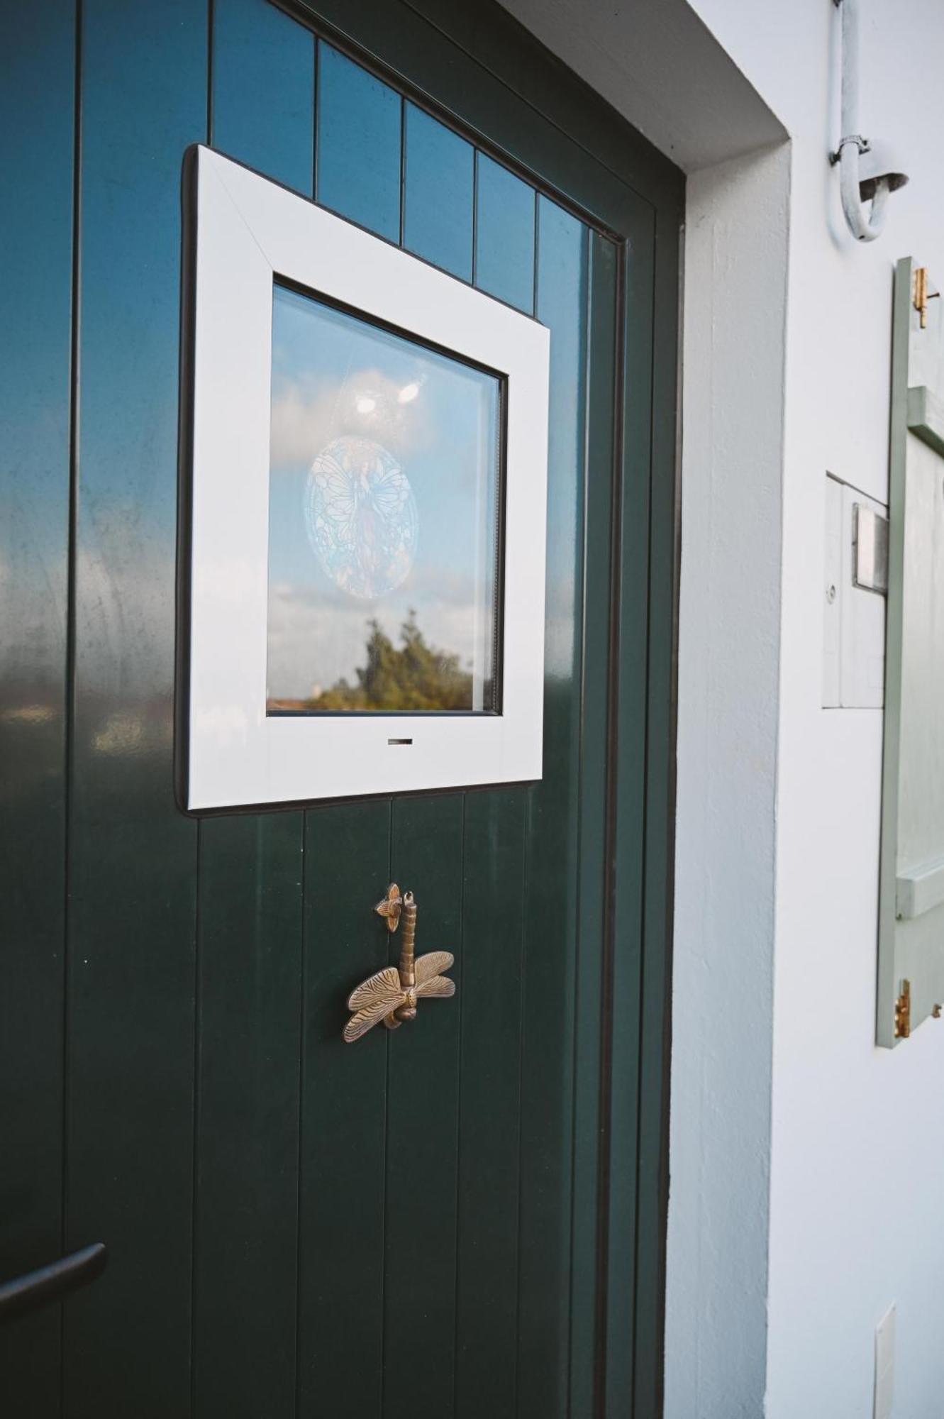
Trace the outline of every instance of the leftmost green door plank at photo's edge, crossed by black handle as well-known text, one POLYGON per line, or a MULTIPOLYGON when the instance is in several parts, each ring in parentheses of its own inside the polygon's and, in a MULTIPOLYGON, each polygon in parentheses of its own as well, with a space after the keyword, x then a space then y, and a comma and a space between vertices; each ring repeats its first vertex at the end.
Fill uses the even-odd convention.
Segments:
MULTIPOLYGON (((62 1249, 62 934, 75 33, 0 14, 0 1277, 62 1249)), ((0 1331, 0 1413, 58 1413, 57 1308, 0 1331)))

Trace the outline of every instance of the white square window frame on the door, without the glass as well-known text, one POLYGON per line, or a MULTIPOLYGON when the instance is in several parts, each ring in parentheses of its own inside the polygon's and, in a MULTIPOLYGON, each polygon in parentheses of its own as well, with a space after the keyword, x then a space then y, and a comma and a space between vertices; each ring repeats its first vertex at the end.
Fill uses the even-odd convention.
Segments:
POLYGON ((183 806, 540 779, 549 331, 207 148, 191 298, 183 806), (266 715, 275 278, 505 375, 500 714, 266 715))

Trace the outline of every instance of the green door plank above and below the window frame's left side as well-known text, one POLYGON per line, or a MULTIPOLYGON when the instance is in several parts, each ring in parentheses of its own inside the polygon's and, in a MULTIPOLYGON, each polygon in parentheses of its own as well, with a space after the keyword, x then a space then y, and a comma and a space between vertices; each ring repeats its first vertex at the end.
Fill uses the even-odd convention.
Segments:
MULTIPOLYGON (((215 0, 210 74, 214 143, 310 196, 310 31, 215 0)), ((298 812, 200 824, 193 1403, 232 1419, 295 1403, 302 839, 298 812)))

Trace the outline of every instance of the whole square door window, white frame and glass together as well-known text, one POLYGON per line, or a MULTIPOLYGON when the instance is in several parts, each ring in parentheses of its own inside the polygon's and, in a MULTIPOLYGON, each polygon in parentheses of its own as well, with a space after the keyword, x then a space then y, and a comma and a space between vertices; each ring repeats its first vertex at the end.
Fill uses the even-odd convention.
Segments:
POLYGON ((183 806, 539 779, 547 329, 210 149, 184 192, 183 806))

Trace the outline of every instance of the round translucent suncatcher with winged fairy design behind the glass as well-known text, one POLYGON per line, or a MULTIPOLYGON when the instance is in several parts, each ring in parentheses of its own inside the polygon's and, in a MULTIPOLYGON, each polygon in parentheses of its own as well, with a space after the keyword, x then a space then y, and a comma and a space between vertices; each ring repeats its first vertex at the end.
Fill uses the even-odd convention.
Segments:
POLYGON ((308 536, 342 592, 374 600, 410 575, 420 519, 410 480, 373 438, 346 434, 315 458, 305 488, 308 536))

